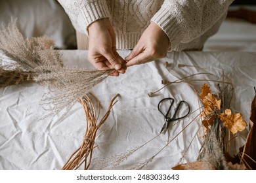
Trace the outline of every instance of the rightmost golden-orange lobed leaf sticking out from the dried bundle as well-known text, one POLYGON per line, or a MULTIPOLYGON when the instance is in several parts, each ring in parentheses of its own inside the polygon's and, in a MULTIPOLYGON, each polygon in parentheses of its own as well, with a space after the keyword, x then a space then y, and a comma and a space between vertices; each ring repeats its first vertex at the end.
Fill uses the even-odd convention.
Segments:
POLYGON ((246 127, 242 114, 232 114, 229 108, 224 113, 219 114, 219 118, 221 118, 224 127, 228 128, 233 134, 244 130, 246 127))

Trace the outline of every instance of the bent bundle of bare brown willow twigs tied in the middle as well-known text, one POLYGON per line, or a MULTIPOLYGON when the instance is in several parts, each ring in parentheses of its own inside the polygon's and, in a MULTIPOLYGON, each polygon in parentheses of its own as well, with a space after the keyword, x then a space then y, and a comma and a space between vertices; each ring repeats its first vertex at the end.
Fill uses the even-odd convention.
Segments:
MULTIPOLYGON (((85 118, 87 122, 85 136, 83 138, 83 142, 81 146, 77 150, 75 150, 75 152, 72 154, 70 159, 68 159, 68 161, 62 167, 62 170, 78 169, 83 163, 84 163, 85 170, 89 168, 91 164, 91 159, 93 157, 93 149, 95 148, 94 145, 95 145, 96 132, 98 128, 102 124, 104 124, 104 122, 108 118, 111 108, 117 102, 115 101, 117 96, 118 95, 116 95, 112 99, 106 114, 103 116, 103 118, 100 120, 98 124, 97 124, 97 121, 98 121, 99 111, 97 114, 95 107, 93 106, 93 103, 89 99, 89 97, 85 95, 82 99, 79 100, 79 103, 81 103, 83 109, 85 110, 85 118)), ((98 108, 99 108, 99 103, 98 103, 98 108)))

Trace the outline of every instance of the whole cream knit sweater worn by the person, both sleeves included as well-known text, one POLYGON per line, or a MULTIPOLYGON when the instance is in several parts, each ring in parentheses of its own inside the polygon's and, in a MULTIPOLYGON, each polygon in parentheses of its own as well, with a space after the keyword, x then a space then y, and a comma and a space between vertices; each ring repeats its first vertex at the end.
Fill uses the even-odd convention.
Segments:
POLYGON ((234 0, 58 0, 75 29, 87 27, 100 18, 110 18, 117 49, 134 48, 150 22, 158 24, 169 37, 171 50, 202 48, 217 32, 234 0))

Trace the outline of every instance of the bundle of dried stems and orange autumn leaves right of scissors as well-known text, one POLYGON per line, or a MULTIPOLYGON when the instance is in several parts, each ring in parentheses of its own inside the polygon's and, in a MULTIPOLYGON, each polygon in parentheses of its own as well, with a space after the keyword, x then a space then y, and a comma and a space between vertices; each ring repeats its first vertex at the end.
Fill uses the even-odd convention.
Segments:
POLYGON ((230 97, 232 86, 219 87, 219 94, 211 93, 207 84, 203 84, 200 99, 203 103, 202 124, 205 129, 205 141, 198 156, 199 160, 207 159, 215 169, 228 169, 224 154, 229 153, 230 132, 242 131, 246 127, 242 114, 232 114, 230 97))

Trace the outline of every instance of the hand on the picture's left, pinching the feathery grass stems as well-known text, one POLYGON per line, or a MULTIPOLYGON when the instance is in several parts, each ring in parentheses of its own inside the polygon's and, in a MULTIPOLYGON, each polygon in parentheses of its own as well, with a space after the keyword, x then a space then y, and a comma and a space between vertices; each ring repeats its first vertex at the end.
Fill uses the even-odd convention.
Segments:
POLYGON ((88 59, 98 70, 116 69, 110 75, 125 73, 126 61, 116 52, 116 35, 110 20, 103 18, 89 25, 88 59), (123 65, 123 67, 122 67, 123 65))

